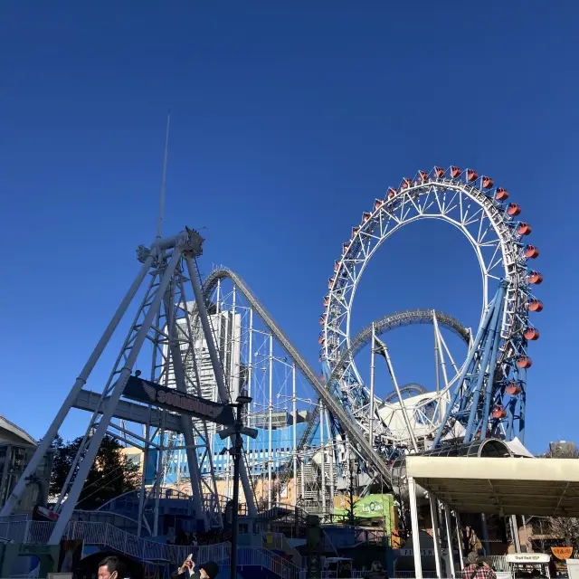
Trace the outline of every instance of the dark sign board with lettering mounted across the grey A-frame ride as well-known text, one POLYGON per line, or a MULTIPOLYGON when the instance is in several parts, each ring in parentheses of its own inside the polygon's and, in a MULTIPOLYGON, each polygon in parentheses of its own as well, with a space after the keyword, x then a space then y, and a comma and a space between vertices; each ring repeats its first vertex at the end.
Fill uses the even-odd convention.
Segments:
POLYGON ((143 380, 137 376, 129 376, 123 396, 138 402, 153 404, 165 410, 180 414, 188 414, 209 422, 216 422, 224 426, 233 426, 233 412, 227 404, 205 400, 193 394, 183 394, 175 388, 166 388, 143 380))

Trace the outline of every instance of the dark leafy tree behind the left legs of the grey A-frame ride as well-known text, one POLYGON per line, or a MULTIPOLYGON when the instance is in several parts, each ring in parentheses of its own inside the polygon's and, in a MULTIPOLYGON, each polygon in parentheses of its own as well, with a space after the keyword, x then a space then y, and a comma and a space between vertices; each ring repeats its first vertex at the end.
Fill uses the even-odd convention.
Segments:
MULTIPOLYGON (((51 494, 60 494, 74 457, 81 446, 81 441, 82 438, 79 437, 64 443, 60 436, 52 441, 54 459, 51 494)), ((138 489, 140 482, 138 466, 128 462, 127 457, 122 453, 122 448, 117 440, 105 436, 81 490, 77 508, 91 510, 128 490, 138 489)))

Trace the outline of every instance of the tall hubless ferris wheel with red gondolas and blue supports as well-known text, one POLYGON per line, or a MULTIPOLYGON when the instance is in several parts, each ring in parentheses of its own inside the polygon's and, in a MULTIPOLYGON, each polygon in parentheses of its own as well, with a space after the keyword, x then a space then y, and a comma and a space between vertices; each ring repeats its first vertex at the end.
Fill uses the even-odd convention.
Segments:
MULTIPOLYGON (((414 451, 490 435, 523 440, 527 368, 532 364, 527 342, 539 337, 529 311, 543 308, 531 287, 543 276, 528 265, 539 251, 524 241, 531 226, 519 220, 521 207, 508 196, 473 169, 435 166, 390 187, 352 229, 327 282, 318 342, 327 388, 341 398, 363 432, 374 431, 390 446, 410 447, 413 441, 414 451), (450 223, 470 242, 482 285, 479 329, 470 337, 466 359, 455 365, 454 375, 445 376, 437 392, 417 393, 405 401, 392 395, 378 400, 356 366, 358 340, 351 336, 356 289, 382 243, 404 225, 425 219, 450 223)), ((433 323, 438 326, 436 315, 433 323)))

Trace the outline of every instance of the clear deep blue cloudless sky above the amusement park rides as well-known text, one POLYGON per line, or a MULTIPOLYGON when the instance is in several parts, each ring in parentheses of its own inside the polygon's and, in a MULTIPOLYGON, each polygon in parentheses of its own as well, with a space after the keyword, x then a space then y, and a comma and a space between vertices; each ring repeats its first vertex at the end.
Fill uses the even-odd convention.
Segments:
MULTIPOLYGON (((171 109, 165 232, 204 227, 204 271, 238 271, 314 364, 333 261, 388 185, 456 164, 508 188, 545 274, 527 443, 579 441, 578 16, 528 0, 4 0, 0 413, 43 435, 135 275, 171 109)), ((479 296, 468 243, 416 224, 365 275, 356 324, 426 306, 474 325, 479 296)), ((392 340, 401 382, 432 380, 426 335, 392 340)))

